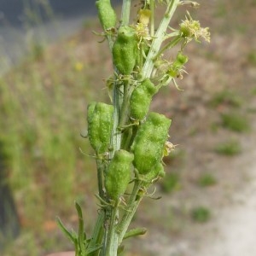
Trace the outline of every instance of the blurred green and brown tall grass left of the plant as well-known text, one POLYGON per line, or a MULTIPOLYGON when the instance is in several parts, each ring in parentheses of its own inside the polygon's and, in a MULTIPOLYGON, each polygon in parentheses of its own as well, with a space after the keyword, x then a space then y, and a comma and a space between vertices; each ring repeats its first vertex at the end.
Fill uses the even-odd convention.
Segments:
MULTIPOLYGON (((33 234, 29 255, 39 255, 38 250, 46 247, 52 251, 57 242, 49 243, 45 235, 53 234, 57 227, 48 230, 45 224, 55 222, 55 215, 73 218, 74 199, 78 196, 84 202, 84 193, 93 195, 96 188, 94 159, 79 150, 90 154, 89 142, 79 134, 86 129, 85 99, 90 100, 92 88, 97 94, 94 99, 103 98, 101 78, 107 74, 103 71, 102 77, 92 79, 96 69, 86 71, 86 65, 93 66, 94 59, 86 60, 86 54, 76 56, 77 44, 79 41, 67 41, 50 49, 35 46, 32 55, 0 79, 4 120, 0 140, 8 155, 9 183, 15 191, 22 228, 33 234), (40 249, 35 250, 38 241, 40 249)), ((102 63, 108 59, 103 49, 99 55, 102 63)), ((90 205, 90 201, 86 203, 90 205)), ((93 215, 87 217, 89 228, 90 218, 93 215)))

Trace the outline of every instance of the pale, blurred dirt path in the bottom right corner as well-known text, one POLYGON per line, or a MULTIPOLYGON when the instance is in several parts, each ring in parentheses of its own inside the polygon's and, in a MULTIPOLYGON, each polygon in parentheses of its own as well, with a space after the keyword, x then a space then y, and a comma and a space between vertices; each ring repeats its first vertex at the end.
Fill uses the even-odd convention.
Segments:
MULTIPOLYGON (((256 131, 256 120, 253 122, 256 131)), ((243 167, 248 181, 233 196, 231 206, 218 210, 212 224, 212 234, 201 246, 197 256, 252 256, 256 255, 256 138, 255 132, 245 137, 246 154, 236 161, 243 167)))

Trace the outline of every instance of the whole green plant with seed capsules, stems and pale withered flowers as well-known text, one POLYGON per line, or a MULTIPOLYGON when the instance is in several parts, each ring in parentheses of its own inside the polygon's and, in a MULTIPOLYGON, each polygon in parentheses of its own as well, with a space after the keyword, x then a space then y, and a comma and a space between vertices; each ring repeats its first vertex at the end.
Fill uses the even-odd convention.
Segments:
POLYGON ((116 15, 110 0, 96 1, 102 36, 108 40, 113 56, 113 76, 107 87, 111 104, 91 102, 87 108, 88 138, 95 150, 100 209, 90 236, 84 233, 81 207, 79 232, 69 232, 77 256, 115 256, 122 252, 122 241, 145 233, 129 230, 139 203, 148 188, 165 176, 163 156, 174 146, 168 141, 171 119, 161 113, 148 113, 154 95, 161 87, 183 78, 189 60, 185 46, 193 39, 210 41, 208 28, 187 12, 177 29, 171 28, 172 16, 180 5, 196 7, 192 1, 144 0, 137 5, 137 21, 130 23, 131 0, 123 0, 116 15), (155 27, 159 5, 166 12, 155 27), (170 49, 176 52, 168 56, 170 49))

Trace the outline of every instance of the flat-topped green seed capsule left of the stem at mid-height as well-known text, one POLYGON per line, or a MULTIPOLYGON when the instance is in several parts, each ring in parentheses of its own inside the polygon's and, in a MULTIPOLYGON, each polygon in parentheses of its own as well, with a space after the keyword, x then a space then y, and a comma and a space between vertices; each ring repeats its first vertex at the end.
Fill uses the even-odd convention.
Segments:
POLYGON ((88 137, 96 154, 108 151, 113 128, 113 106, 93 102, 88 106, 88 137))

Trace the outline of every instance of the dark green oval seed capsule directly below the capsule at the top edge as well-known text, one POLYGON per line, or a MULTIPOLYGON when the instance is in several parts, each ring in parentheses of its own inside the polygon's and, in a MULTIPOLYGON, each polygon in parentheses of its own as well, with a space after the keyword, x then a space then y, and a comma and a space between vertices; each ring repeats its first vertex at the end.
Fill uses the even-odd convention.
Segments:
POLYGON ((131 74, 137 61, 137 35, 131 26, 120 26, 113 44, 113 64, 124 75, 131 74))

